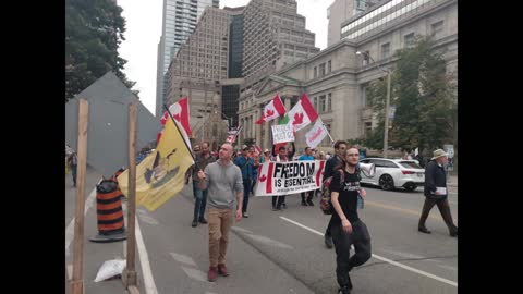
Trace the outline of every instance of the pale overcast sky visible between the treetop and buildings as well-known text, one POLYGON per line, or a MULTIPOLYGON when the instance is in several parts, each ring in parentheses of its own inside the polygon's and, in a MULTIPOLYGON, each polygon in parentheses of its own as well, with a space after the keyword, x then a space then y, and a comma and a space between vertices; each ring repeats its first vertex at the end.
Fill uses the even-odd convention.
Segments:
MULTIPOLYGON (((220 0, 220 8, 241 7, 250 0, 220 0)), ((327 8, 333 0, 297 0, 297 13, 305 16, 306 28, 316 34, 316 47, 327 47, 327 8)), ((161 35, 163 0, 118 0, 126 21, 125 40, 120 56, 127 60, 125 74, 136 82, 142 103, 154 114, 156 108, 156 64, 161 35)))

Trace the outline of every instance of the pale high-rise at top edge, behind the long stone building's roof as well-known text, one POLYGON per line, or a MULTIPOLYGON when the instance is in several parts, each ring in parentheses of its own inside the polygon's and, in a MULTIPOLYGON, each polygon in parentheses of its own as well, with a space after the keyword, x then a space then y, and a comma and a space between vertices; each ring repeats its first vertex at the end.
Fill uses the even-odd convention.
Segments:
POLYGON ((362 13, 379 1, 380 0, 335 0, 327 9, 327 19, 329 20, 327 46, 331 46, 341 39, 341 23, 362 13))

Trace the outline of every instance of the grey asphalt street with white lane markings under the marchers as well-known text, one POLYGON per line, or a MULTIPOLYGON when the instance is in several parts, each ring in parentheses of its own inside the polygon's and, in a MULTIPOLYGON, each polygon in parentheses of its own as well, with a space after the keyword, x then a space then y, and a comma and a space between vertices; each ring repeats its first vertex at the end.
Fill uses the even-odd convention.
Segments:
MULTIPOLYGON (((89 201, 99 176, 88 169, 84 243, 86 293, 123 293, 120 279, 94 283, 105 260, 123 257, 124 242, 88 241, 96 231, 96 210, 89 201), (90 197, 89 197, 90 195, 90 197)), ((372 236, 373 258, 351 272, 353 293, 457 293, 458 241, 450 237, 435 207, 427 220, 433 234, 417 232, 424 196, 415 192, 384 192, 366 187, 360 217, 372 236)), ((66 228, 74 211, 75 189, 66 175, 66 228)), ((329 221, 318 208, 302 207, 300 195, 287 198, 288 209, 271 211, 270 197, 250 200, 248 219, 230 235, 230 277, 207 282, 207 225, 191 228, 191 184, 155 212, 137 208, 136 269, 141 293, 336 293, 336 255, 324 245, 329 221)), ((458 195, 449 197, 457 222, 458 195)), ((124 209, 125 209, 124 205, 124 209)), ((126 217, 126 215, 125 215, 126 217)), ((457 222, 458 224, 458 222, 457 222)), ((72 232, 72 230, 71 230, 72 232)), ((72 234, 66 233, 66 245, 72 234)), ((72 246, 66 247, 72 264, 72 246)))

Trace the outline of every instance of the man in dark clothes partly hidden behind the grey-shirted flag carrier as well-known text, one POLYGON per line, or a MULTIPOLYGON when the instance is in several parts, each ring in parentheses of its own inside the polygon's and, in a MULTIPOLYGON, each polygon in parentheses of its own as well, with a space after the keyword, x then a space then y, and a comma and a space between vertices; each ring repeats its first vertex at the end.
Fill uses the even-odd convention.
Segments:
POLYGON ((207 189, 200 189, 198 187, 198 170, 205 168, 215 162, 216 159, 209 152, 209 143, 204 142, 202 143, 202 150, 199 146, 195 146, 195 166, 193 166, 193 195, 194 195, 194 215, 193 215, 193 223, 191 226, 195 228, 198 225, 198 221, 200 223, 207 223, 205 219, 205 206, 207 204, 207 189), (196 147, 198 149, 196 149, 196 147), (198 169, 199 168, 199 169, 198 169))

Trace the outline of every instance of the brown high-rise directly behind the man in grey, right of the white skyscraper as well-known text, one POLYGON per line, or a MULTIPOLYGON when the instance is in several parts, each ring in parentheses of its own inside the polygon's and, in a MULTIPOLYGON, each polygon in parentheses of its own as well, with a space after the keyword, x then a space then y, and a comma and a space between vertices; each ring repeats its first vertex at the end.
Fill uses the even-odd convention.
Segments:
POLYGON ((188 97, 193 138, 209 140, 212 150, 226 139, 231 123, 222 118, 220 95, 220 82, 228 78, 229 24, 227 10, 206 8, 166 73, 168 103, 188 97))

